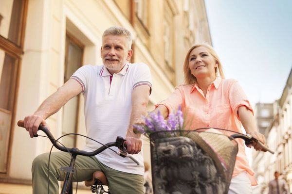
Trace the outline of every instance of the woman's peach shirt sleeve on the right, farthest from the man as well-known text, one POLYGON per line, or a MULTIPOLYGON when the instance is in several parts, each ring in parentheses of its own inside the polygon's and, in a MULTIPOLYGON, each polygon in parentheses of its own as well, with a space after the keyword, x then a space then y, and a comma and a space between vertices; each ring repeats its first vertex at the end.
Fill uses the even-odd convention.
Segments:
POLYGON ((231 105, 231 109, 232 109, 234 115, 236 115, 238 119, 239 119, 239 115, 238 115, 237 111, 238 111, 238 108, 241 106, 245 106, 247 109, 249 109, 254 114, 254 110, 253 110, 249 100, 247 99, 243 89, 239 85, 238 81, 232 80, 230 87, 229 87, 228 95, 229 95, 229 102, 231 105))

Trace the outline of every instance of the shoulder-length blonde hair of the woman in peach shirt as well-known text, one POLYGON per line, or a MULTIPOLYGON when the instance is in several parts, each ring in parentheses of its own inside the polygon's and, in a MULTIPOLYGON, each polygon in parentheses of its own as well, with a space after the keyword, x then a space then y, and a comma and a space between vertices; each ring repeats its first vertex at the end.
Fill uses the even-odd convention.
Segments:
POLYGON ((184 83, 185 84, 194 84, 197 83, 197 78, 195 76, 193 76, 191 74, 191 70, 189 67, 189 57, 190 57, 190 53, 193 49, 196 49, 198 47, 204 47, 206 49, 208 49, 209 53, 214 57, 215 61, 218 64, 218 67, 215 68, 215 76, 218 76, 218 71, 220 74, 220 77, 222 79, 225 79, 224 73, 223 73, 223 67, 222 64, 219 60, 219 57, 217 55, 217 53, 215 52, 215 50, 213 49, 212 46, 206 44, 206 43, 202 43, 202 44, 195 44, 194 46, 192 46, 188 52, 186 53, 185 59, 184 59, 184 63, 183 63, 183 73, 184 73, 184 83))

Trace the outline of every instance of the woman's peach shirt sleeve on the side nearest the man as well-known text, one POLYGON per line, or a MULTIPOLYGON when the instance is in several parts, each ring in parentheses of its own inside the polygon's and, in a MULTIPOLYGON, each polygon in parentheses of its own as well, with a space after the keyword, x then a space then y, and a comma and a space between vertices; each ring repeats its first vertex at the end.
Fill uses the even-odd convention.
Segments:
POLYGON ((164 105, 167 108, 168 113, 177 110, 179 106, 183 106, 182 86, 177 86, 175 91, 168 98, 155 104, 155 107, 157 108, 159 105, 164 105))

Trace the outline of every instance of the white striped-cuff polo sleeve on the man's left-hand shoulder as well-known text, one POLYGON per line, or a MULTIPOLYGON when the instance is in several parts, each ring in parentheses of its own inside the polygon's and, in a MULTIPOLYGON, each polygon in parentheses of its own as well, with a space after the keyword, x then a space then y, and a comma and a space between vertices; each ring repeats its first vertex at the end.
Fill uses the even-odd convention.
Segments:
POLYGON ((91 65, 84 65, 80 67, 79 69, 77 69, 73 73, 73 75, 70 77, 70 79, 77 81, 81 85, 83 93, 86 91, 86 88, 87 88, 88 77, 90 75, 90 71, 93 70, 91 68, 92 68, 91 65))

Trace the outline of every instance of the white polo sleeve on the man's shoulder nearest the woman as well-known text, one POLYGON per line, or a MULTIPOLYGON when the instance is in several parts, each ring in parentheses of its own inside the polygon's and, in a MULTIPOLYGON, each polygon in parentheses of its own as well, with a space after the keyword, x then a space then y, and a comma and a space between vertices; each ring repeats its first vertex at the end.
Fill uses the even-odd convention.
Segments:
POLYGON ((148 85, 150 87, 151 94, 152 78, 149 67, 146 64, 140 63, 137 64, 135 71, 133 89, 140 85, 148 85))

